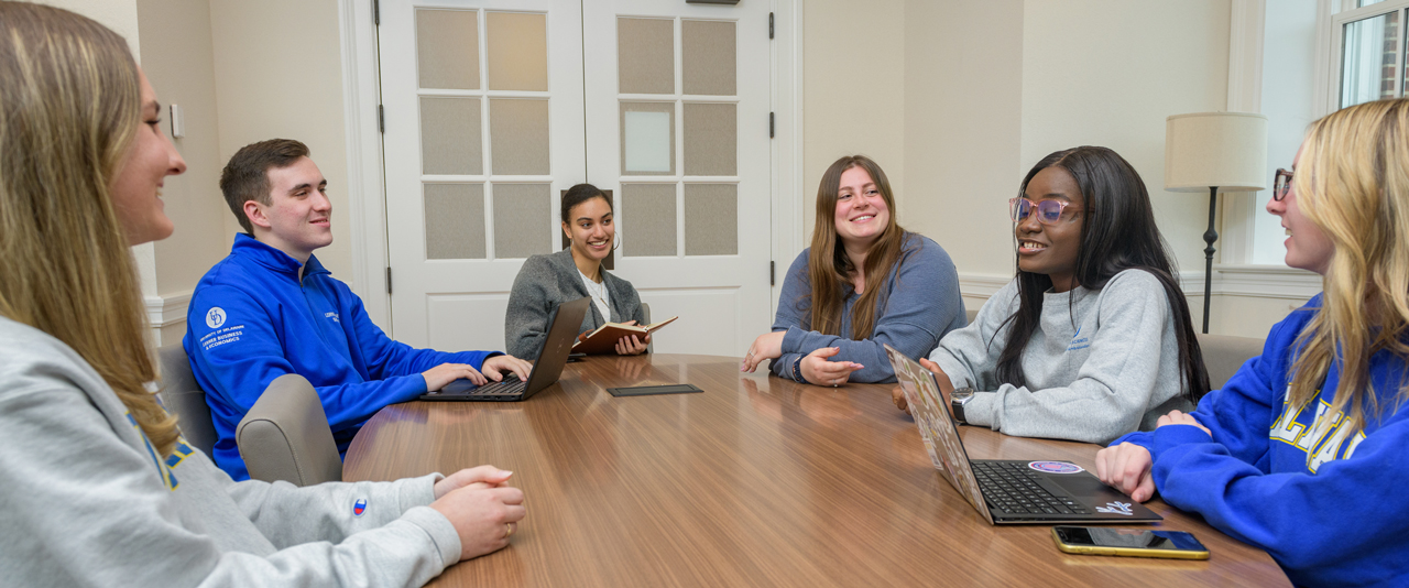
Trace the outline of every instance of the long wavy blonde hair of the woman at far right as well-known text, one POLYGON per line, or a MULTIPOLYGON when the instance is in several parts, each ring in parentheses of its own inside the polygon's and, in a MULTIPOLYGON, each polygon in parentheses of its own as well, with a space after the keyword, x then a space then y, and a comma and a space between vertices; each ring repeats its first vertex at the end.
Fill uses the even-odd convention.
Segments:
MULTIPOLYGON (((1293 178, 1296 206, 1332 244, 1322 309, 1298 336, 1291 402, 1303 406, 1340 362, 1332 410, 1364 429, 1384 415, 1370 357, 1409 358, 1409 100, 1379 100, 1312 123, 1293 178), (1348 408, 1348 410, 1347 410, 1348 408)), ((1398 408, 1409 388, 1399 386, 1398 408)))

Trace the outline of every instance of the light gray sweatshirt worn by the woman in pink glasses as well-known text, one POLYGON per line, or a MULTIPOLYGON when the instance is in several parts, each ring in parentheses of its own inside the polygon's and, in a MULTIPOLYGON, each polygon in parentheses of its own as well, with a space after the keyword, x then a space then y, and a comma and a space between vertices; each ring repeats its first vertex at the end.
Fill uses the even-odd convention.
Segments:
POLYGON ((954 388, 978 391, 964 408, 969 424, 1019 437, 1106 444, 1154 429, 1169 410, 1193 408, 1181 396, 1169 300, 1150 272, 1126 269, 1100 290, 1078 286, 1069 296, 1043 295, 1041 321, 1022 358, 1024 388, 996 378, 1010 324, 998 327, 1017 306, 1013 279, 988 299, 972 324, 944 336, 930 353, 954 388))

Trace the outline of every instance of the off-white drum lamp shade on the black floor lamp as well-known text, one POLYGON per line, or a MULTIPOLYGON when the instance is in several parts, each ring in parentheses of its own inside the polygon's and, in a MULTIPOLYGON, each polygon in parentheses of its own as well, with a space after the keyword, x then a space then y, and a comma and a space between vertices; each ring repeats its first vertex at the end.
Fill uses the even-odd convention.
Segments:
POLYGON ((1195 113, 1165 118, 1164 189, 1174 192, 1267 189, 1267 117, 1195 113))

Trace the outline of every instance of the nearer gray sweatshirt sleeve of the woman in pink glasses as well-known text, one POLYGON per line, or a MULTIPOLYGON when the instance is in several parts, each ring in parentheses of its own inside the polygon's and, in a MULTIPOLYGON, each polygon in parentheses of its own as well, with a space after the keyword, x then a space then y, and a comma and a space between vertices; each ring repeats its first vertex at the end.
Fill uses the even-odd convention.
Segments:
MULTIPOLYGON (((1069 385, 1041 391, 1012 384, 975 388, 981 392, 964 408, 965 420, 1012 436, 1100 444, 1138 429, 1160 372, 1169 302, 1153 275, 1127 271, 1100 290, 1096 312, 1100 329, 1069 385)), ((961 347, 960 340, 955 347, 961 347)), ((995 361, 1000 350, 995 344, 995 361)), ((944 362, 940 367, 948 372, 944 362)), ((951 381, 958 386, 961 378, 951 381)))

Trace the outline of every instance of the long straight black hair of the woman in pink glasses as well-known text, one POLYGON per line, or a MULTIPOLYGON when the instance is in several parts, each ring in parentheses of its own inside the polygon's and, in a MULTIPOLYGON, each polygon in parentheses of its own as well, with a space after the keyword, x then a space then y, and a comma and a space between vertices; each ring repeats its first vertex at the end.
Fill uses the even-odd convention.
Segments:
MULTIPOLYGON (((1184 396, 1198 402, 1209 391, 1209 372, 1203 367, 1203 353, 1193 333, 1189 303, 1174 279, 1175 264, 1169 258, 1160 227, 1154 223, 1150 193, 1140 173, 1115 151, 1105 147, 1076 147, 1057 151, 1038 161, 1027 176, 1019 196, 1037 172, 1061 168, 1081 189, 1082 223, 1081 245, 1076 251, 1076 283, 1099 290, 1110 278, 1126 269, 1150 272, 1164 286, 1169 310, 1175 319, 1175 338, 1179 341, 1179 382, 1184 396)), ((1016 243, 1016 235, 1014 235, 1016 243)), ((998 357, 998 379, 1024 386, 1023 350, 1037 330, 1043 314, 1043 293, 1051 289, 1051 276, 1024 272, 1017 268, 1019 306, 1005 324, 1012 323, 1007 343, 998 357)))

